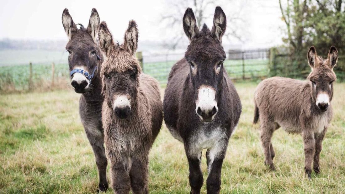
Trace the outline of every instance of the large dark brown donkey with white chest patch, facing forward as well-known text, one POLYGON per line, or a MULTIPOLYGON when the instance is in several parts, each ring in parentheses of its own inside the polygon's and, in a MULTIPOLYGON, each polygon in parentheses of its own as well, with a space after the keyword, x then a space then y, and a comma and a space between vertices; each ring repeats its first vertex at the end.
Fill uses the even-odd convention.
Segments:
POLYGON ((164 96, 164 121, 172 136, 184 143, 191 193, 200 193, 204 179, 201 152, 207 149, 207 193, 219 193, 221 166, 242 105, 223 66, 221 37, 226 16, 216 7, 213 27, 199 31, 191 8, 183 17, 190 41, 185 57, 171 69, 164 96))

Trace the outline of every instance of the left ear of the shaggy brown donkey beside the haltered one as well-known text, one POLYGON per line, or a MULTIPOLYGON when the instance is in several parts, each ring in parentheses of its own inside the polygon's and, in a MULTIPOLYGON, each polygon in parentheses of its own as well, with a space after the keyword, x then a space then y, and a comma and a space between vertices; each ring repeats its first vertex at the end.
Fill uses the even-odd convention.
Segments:
POLYGON ((101 51, 106 56, 109 56, 110 52, 115 47, 114 42, 112 41, 111 33, 108 30, 107 23, 104 21, 99 24, 98 44, 99 44, 99 47, 101 48, 101 51))

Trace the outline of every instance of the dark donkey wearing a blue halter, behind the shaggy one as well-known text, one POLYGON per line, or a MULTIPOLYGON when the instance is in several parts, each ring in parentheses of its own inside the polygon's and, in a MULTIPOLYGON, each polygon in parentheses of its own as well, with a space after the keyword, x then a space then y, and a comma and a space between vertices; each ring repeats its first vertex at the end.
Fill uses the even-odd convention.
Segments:
POLYGON ((68 9, 63 10, 62 24, 68 36, 66 50, 69 53, 68 64, 71 85, 77 93, 82 93, 79 101, 79 114, 86 135, 96 157, 99 173, 99 191, 108 188, 106 170, 107 157, 104 150, 101 110, 103 97, 100 77, 100 65, 103 62, 101 51, 96 41, 99 15, 95 8, 91 11, 88 27, 77 28, 68 9))

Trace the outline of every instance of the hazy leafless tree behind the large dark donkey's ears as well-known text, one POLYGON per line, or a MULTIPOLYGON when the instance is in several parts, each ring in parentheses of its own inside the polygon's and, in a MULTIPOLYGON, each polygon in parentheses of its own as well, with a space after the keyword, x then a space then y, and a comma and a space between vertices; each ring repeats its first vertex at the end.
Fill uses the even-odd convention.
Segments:
MULTIPOLYGON (((164 45, 167 46, 170 50, 175 50, 181 40, 185 37, 185 34, 182 30, 182 17, 185 10, 190 7, 193 9, 195 18, 197 20, 197 25, 201 29, 202 25, 208 19, 213 19, 214 9, 218 4, 215 0, 166 0, 169 5, 166 12, 162 14, 161 21, 165 29, 173 31, 174 34, 169 40, 164 42, 164 45)), ((225 1, 229 4, 232 0, 225 1)), ((223 8, 224 9, 224 8, 223 8)), ((224 37, 226 38, 235 38, 240 41, 244 41, 245 35, 239 32, 240 27, 237 24, 245 23, 244 19, 241 17, 241 8, 232 11, 231 15, 227 12, 227 29, 224 37), (231 25, 229 25, 231 24, 231 25)))

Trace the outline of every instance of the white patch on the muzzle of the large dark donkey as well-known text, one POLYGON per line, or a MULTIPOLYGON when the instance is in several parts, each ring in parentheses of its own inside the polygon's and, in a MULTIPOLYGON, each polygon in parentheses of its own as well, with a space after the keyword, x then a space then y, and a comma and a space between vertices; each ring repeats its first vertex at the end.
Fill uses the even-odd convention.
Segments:
POLYGON ((198 99, 196 100, 196 110, 200 108, 202 111, 212 111, 213 107, 217 107, 215 101, 216 91, 210 86, 201 86, 198 90, 198 99))

